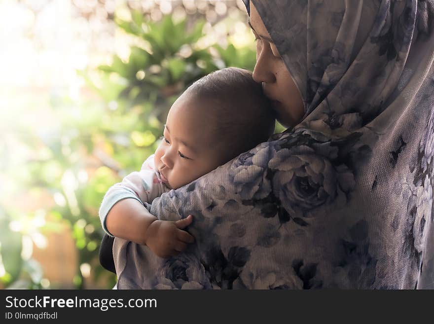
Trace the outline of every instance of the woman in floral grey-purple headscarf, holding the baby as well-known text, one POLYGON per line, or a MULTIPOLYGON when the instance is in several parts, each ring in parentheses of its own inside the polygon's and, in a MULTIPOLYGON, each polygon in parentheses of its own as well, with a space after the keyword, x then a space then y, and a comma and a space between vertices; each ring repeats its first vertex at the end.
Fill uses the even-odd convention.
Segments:
POLYGON ((289 129, 155 199, 197 244, 162 262, 115 246, 118 287, 434 288, 430 2, 246 6, 289 129))

